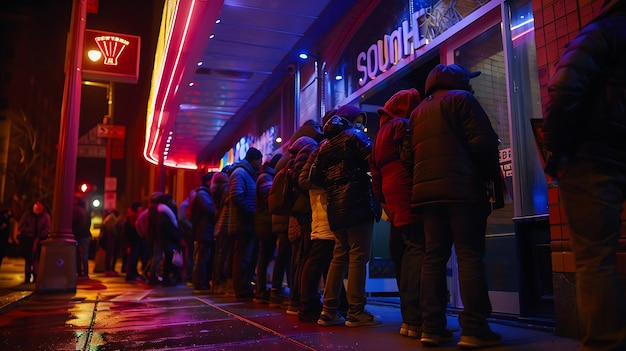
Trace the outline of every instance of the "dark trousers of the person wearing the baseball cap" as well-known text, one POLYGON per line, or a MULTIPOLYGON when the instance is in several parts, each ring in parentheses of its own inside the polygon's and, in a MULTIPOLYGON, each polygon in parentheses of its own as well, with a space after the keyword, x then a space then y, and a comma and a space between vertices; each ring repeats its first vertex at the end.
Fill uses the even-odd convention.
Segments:
POLYGON ((489 331, 491 302, 485 274, 485 231, 488 210, 478 204, 433 204, 422 207, 426 252, 422 266, 422 317, 426 333, 441 334, 446 328, 446 263, 454 243, 459 271, 463 312, 459 325, 463 335, 489 331))

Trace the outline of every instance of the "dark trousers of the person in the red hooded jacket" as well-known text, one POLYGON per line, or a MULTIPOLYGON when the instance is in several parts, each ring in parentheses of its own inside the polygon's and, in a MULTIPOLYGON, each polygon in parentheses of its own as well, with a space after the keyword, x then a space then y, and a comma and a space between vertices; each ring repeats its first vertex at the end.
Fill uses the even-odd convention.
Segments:
POLYGON ((420 289, 424 261, 424 225, 419 221, 395 227, 395 231, 404 239, 405 246, 404 254, 401 256, 401 273, 398 278, 402 322, 412 326, 421 326, 420 289))

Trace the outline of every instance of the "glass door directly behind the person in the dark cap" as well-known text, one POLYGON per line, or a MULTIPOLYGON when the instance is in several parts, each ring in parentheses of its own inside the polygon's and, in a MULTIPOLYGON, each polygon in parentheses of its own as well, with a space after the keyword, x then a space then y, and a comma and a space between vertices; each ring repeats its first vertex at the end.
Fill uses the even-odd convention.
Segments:
MULTIPOLYGON (((485 26, 489 21, 483 21, 481 18, 478 22, 485 26)), ((456 63, 470 71, 482 72, 480 76, 472 79, 471 84, 474 95, 487 112, 494 130, 502 140, 500 165, 507 188, 512 189, 507 65, 499 16, 491 23, 491 26, 486 28, 465 33, 461 40, 454 42, 452 39, 443 54, 447 64, 456 63)), ((485 266, 493 311, 519 314, 519 267, 513 207, 513 200, 509 195, 505 207, 495 210, 488 218, 485 266)), ((449 268, 453 276, 449 283, 453 285, 449 288, 453 307, 460 308, 462 303, 456 283, 458 277, 455 258, 450 261, 449 268)))

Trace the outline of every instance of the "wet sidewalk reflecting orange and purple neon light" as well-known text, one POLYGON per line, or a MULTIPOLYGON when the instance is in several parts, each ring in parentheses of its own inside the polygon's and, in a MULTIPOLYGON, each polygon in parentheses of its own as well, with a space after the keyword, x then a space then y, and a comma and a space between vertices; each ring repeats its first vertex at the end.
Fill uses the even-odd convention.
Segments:
MULTIPOLYGON (((75 294, 33 293, 23 281, 23 261, 5 258, 0 267, 2 350, 423 350, 419 340, 398 334, 395 299, 370 298, 368 310, 382 323, 371 327, 319 327, 282 309, 194 294, 189 286, 127 283, 123 275, 91 274, 75 294)), ((459 327, 448 327, 457 350, 459 327)), ((551 330, 493 320, 503 344, 489 350, 570 351, 580 343, 551 330)))

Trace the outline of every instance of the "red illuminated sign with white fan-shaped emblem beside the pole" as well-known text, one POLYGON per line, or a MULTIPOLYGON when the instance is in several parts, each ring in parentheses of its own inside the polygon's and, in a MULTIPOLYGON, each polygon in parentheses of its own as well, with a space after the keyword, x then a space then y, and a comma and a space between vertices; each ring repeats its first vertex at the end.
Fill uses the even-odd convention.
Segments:
POLYGON ((141 38, 86 29, 83 79, 137 83, 141 38))

